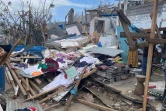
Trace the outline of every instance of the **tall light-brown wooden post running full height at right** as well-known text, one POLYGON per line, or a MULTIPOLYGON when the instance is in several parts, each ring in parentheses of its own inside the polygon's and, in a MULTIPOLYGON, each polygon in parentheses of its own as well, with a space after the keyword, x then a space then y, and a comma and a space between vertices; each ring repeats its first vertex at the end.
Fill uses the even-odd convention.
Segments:
MULTIPOLYGON (((151 26, 151 33, 150 33, 150 38, 152 38, 152 39, 155 38, 157 10, 158 10, 158 0, 154 0, 152 26, 151 26)), ((147 61, 147 69, 146 69, 146 82, 145 82, 144 101, 143 101, 143 111, 146 111, 146 105, 147 105, 147 95, 148 95, 148 86, 149 86, 149 79, 150 79, 150 73, 151 73, 153 48, 154 48, 153 43, 149 43, 148 61, 147 61)))

